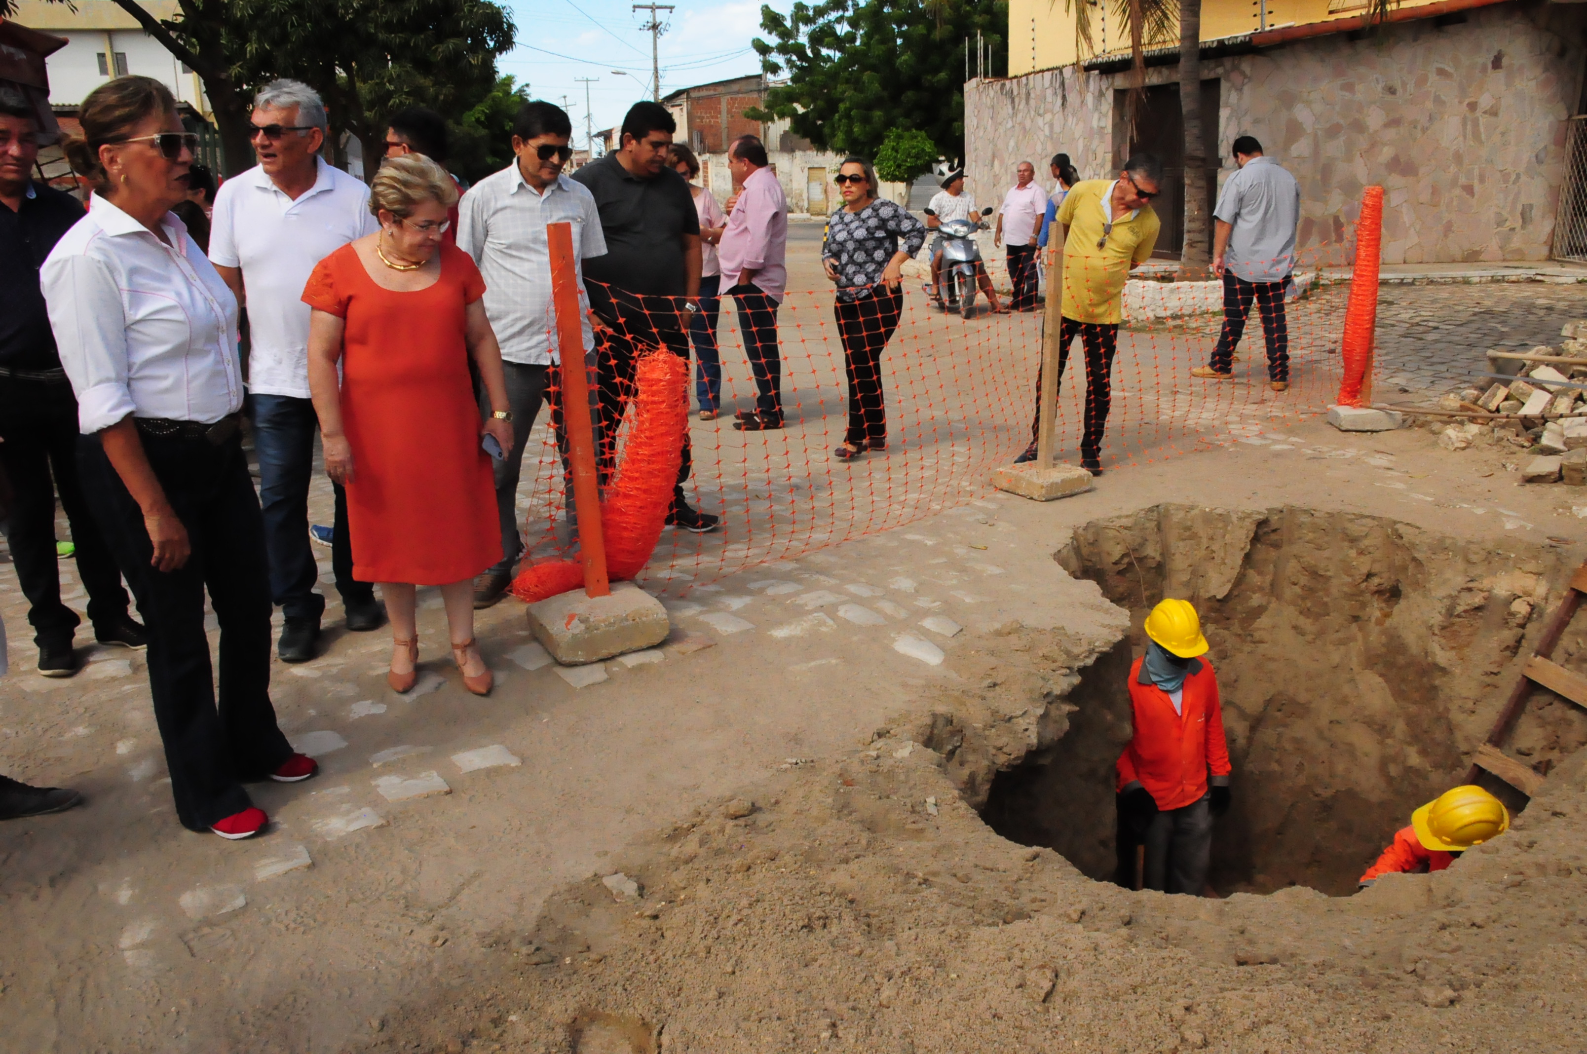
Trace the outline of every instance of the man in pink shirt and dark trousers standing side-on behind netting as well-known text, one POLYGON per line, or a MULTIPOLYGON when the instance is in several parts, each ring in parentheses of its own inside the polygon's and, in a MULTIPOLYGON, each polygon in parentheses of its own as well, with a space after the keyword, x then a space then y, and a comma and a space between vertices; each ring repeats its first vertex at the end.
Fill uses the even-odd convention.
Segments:
POLYGON ((724 297, 738 298, 738 329, 755 375, 755 408, 736 411, 740 432, 782 427, 782 360, 778 357, 778 305, 787 289, 789 203, 765 144, 741 135, 727 148, 727 167, 741 184, 717 246, 724 297))

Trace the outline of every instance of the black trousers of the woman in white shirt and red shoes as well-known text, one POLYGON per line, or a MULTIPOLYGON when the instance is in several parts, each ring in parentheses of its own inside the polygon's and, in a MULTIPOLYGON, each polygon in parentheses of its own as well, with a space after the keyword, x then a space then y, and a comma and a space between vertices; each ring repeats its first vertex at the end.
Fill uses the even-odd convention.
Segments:
POLYGON ((149 632, 149 690, 176 816, 189 830, 208 830, 251 805, 243 783, 265 779, 292 754, 270 705, 265 522, 236 438, 211 446, 143 437, 143 449, 192 541, 184 567, 149 565, 143 511, 94 437, 78 446, 83 486, 149 632), (221 622, 219 692, 206 590, 221 622))

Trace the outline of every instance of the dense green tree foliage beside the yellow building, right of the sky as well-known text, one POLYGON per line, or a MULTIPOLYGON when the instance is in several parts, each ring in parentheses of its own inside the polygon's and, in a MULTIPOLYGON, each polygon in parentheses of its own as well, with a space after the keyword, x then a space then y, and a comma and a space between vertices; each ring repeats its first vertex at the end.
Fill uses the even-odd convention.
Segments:
POLYGON ((976 32, 1006 71, 1006 0, 825 0, 782 16, 760 8, 771 38, 752 46, 770 76, 751 117, 786 117, 816 146, 876 157, 892 130, 924 132, 951 157, 965 143, 965 38, 976 32))

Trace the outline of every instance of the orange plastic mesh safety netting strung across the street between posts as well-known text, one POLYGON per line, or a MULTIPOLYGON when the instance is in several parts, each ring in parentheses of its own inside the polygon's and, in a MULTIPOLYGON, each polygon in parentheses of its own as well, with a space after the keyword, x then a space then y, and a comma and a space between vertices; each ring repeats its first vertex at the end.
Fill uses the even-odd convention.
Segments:
MULTIPOLYGON (((1111 360, 1111 408, 1101 433, 1101 465, 1116 470, 1151 464, 1255 438, 1324 413, 1339 390, 1339 343, 1351 284, 1347 259, 1347 246, 1325 244, 1301 252, 1295 264, 1298 297, 1292 292, 1284 311, 1287 390, 1270 386, 1262 303, 1249 303, 1249 325, 1232 378, 1200 379, 1190 370, 1208 365, 1219 340, 1224 284, 1128 283, 1111 360)), ((992 262, 992 268, 995 284, 1006 290, 1000 262, 992 262)), ((1073 281, 1066 276, 1066 283, 1073 281)), ((1376 289, 1371 294, 1376 297, 1376 289)), ((703 319, 690 319, 679 310, 681 303, 657 311, 655 300, 646 298, 644 308, 655 332, 636 332, 628 325, 622 340, 606 338, 597 354, 600 370, 590 373, 592 386, 608 403, 603 414, 608 427, 597 433, 603 479, 614 459, 633 459, 651 435, 643 424, 643 408, 654 389, 649 389, 644 364, 654 357, 673 359, 682 367, 676 354, 644 356, 646 343, 651 348, 668 344, 674 351, 682 346, 690 359, 687 384, 679 383, 682 378, 676 371, 668 379, 673 408, 681 410, 686 395, 689 400, 690 465, 682 494, 701 513, 720 516, 722 525, 711 533, 662 532, 649 562, 632 571, 652 587, 706 583, 962 505, 984 494, 992 468, 1009 464, 1033 440, 1036 376, 1043 360, 1039 308, 1035 313, 990 313, 979 298, 973 317, 963 319, 957 311, 933 306, 917 276, 906 279, 897 329, 886 333, 893 324, 886 310, 859 319, 851 311, 843 317, 835 311, 830 287, 790 290, 778 306, 774 327, 782 427, 736 430, 735 411, 752 414, 760 392, 733 298, 720 302, 716 330, 720 403, 713 421, 698 414, 698 346, 708 340, 703 319), (886 343, 879 340, 884 335, 886 343), (641 354, 630 359, 635 348, 641 354), (870 365, 873 354, 874 368, 870 365), (635 362, 644 378, 633 400, 641 406, 638 421, 635 411, 616 416, 635 395, 630 379, 635 362), (879 381, 879 403, 873 381, 879 381), (854 414, 851 387, 862 397, 860 411, 854 414), (835 456, 844 438, 879 438, 878 410, 882 411, 886 446, 865 449, 854 459, 835 456)), ((749 319, 751 344, 757 344, 755 327, 763 321, 749 319)), ((1087 402, 1093 416, 1097 411, 1086 378, 1082 344, 1087 333, 1078 337, 1062 375, 1055 417, 1057 457, 1073 464, 1081 457, 1087 402)), ((762 370, 762 379, 765 373, 762 370)), ((652 471, 665 476, 662 468, 652 471)), ((616 484, 606 492, 609 505, 619 503, 627 473, 624 460, 616 484)), ((1117 478, 1120 486, 1128 486, 1125 473, 1117 478)), ((652 484, 646 494, 662 492, 660 483, 652 479, 652 484)), ((548 414, 530 435, 517 505, 527 557, 565 559, 573 551, 563 511, 562 459, 548 414)), ((613 552, 611 576, 630 576, 627 568, 617 567, 611 538, 608 552, 613 552)), ((524 578, 519 595, 524 595, 522 583, 524 578)), ((560 589, 578 583, 574 575, 560 589)))

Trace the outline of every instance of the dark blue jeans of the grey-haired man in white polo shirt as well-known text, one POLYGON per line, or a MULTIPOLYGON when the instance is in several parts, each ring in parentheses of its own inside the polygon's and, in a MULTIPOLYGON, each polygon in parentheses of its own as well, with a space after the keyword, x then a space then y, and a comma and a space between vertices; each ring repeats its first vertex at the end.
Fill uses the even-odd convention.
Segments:
MULTIPOLYGON (((254 451, 259 454, 259 503, 270 554, 270 595, 289 619, 319 622, 325 597, 314 592, 319 565, 308 540, 308 489, 314 479, 314 435, 319 414, 308 398, 254 395, 254 451)), ((375 586, 352 578, 352 533, 348 495, 335 490, 330 570, 341 603, 371 603, 375 586)))

